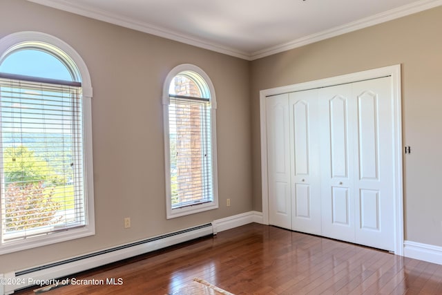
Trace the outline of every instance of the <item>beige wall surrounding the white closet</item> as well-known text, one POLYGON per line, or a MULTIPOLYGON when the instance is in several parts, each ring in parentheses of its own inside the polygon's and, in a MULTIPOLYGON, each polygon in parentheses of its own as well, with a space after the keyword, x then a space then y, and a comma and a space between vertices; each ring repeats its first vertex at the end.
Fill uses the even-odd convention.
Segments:
POLYGON ((402 64, 405 239, 442 246, 442 7, 251 62, 253 209, 262 210, 259 91, 402 64))

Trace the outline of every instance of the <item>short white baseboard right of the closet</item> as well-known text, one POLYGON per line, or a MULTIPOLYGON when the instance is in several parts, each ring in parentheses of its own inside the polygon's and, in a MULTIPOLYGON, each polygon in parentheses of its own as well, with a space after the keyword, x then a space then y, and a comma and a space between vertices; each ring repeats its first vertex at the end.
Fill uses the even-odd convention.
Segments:
POLYGON ((442 265, 442 247, 421 242, 404 242, 404 256, 442 265))

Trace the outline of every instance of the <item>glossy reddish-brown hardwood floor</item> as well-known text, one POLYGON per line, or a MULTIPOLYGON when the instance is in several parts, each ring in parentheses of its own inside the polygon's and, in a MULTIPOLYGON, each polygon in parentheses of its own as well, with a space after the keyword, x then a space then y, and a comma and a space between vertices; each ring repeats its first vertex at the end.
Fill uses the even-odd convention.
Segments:
POLYGON ((102 285, 44 294, 173 294, 195 277, 233 294, 442 294, 442 265, 258 224, 70 276, 102 285))

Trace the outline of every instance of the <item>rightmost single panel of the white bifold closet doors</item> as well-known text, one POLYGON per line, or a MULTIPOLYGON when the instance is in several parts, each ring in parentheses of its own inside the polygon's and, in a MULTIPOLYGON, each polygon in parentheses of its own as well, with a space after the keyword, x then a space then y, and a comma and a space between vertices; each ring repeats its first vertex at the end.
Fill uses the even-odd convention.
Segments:
POLYGON ((390 77, 352 84, 356 99, 356 243, 394 251, 394 113, 390 77))

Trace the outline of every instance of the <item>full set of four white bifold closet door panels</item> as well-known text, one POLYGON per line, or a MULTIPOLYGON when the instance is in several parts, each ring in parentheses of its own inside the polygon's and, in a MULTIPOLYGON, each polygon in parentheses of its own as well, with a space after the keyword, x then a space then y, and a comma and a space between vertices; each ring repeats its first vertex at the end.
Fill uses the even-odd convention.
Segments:
POLYGON ((390 77, 267 97, 269 223, 394 250, 390 77))

